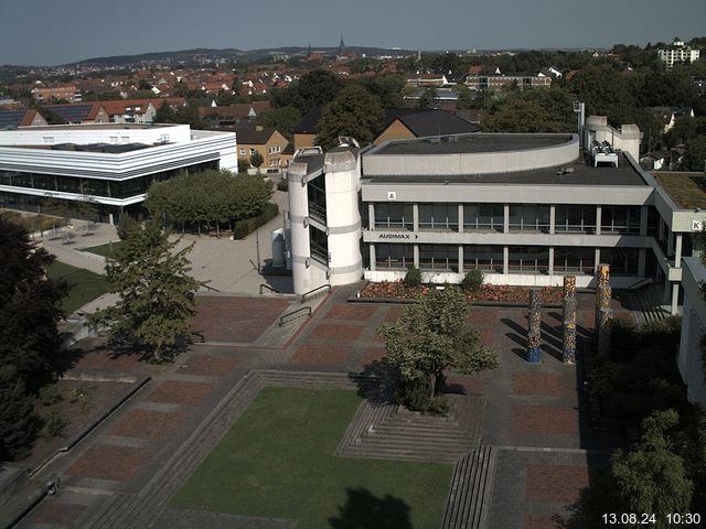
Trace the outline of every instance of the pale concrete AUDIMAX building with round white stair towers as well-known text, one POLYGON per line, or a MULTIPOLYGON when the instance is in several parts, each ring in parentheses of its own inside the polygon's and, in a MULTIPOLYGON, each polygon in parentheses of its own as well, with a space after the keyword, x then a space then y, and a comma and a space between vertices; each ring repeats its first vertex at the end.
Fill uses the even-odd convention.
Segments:
POLYGON ((589 287, 607 262, 613 288, 653 278, 676 312, 682 257, 706 213, 640 168, 635 126, 589 117, 582 136, 472 133, 363 150, 345 140, 298 152, 288 176, 295 291, 402 279, 410 267, 428 282, 480 269, 495 284, 573 274, 589 287))

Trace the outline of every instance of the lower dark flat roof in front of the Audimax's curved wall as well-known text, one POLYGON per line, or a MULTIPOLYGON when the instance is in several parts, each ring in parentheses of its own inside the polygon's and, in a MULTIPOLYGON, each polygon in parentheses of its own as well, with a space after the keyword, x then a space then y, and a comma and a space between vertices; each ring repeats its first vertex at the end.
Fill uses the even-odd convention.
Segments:
MULTIPOLYGON (((516 143, 514 143, 516 145, 516 143)), ((438 145, 435 145, 438 147, 438 145)), ((512 173, 462 174, 462 175, 367 175, 363 156, 363 177, 368 183, 446 183, 449 184, 517 184, 517 185, 627 185, 643 186, 648 183, 630 164, 624 154, 618 158, 618 168, 589 165, 584 158, 574 163, 512 173), (568 169, 570 172, 564 170, 568 169)))

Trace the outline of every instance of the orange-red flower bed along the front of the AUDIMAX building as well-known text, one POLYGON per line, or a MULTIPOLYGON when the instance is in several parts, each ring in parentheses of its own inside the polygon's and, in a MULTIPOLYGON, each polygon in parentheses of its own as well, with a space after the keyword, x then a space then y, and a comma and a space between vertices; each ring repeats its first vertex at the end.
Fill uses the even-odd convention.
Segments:
MULTIPOLYGON (((417 295, 426 295, 434 287, 405 287, 403 280, 367 283, 361 291, 361 299, 368 300, 414 300, 417 295)), ((503 302, 524 305, 530 303, 528 287, 509 287, 505 284, 484 284, 480 292, 467 293, 470 301, 503 302)), ((560 287, 542 287, 542 302, 561 303, 564 291, 560 287)))

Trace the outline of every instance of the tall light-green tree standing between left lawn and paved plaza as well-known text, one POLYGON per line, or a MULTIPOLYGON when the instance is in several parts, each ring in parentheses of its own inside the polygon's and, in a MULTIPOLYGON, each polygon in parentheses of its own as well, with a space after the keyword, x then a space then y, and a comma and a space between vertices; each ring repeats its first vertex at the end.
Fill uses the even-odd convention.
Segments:
POLYGON ((89 320, 107 326, 111 339, 148 348, 161 361, 189 333, 194 294, 204 284, 189 276, 193 245, 175 251, 176 242, 157 223, 121 231, 122 245, 106 259, 106 279, 119 300, 89 320))

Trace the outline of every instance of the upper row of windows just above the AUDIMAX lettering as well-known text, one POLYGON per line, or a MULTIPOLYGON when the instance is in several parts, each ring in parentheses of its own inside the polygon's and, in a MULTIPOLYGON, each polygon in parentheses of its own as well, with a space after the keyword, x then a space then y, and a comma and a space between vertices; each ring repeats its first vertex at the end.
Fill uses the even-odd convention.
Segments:
MULTIPOLYGON (((375 204, 375 229, 414 229, 411 204, 375 204)), ((458 204, 419 204, 419 229, 458 231, 458 204)), ((463 204, 463 229, 503 231, 503 204, 463 204)), ((555 231, 596 233, 596 206, 555 206, 555 231)), ((549 206, 511 204, 509 228, 512 231, 549 231, 549 206)), ((601 233, 639 234, 640 206, 602 206, 601 233)))

